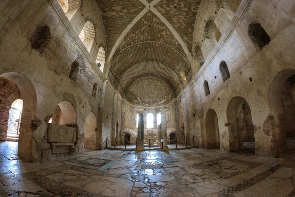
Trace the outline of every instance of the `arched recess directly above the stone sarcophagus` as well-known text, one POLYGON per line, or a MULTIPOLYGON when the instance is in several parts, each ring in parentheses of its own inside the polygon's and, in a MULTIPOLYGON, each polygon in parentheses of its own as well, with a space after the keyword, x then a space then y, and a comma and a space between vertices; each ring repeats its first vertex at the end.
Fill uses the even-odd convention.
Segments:
POLYGON ((63 126, 77 124, 77 113, 73 104, 67 100, 61 101, 54 111, 52 123, 63 126))

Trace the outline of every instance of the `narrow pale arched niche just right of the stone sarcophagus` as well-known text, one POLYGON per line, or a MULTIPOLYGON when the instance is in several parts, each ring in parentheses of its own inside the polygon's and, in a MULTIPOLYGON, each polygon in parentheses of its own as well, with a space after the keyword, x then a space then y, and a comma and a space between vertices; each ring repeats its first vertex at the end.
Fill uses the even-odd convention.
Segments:
POLYGON ((88 150, 95 150, 96 149, 96 116, 93 112, 90 112, 86 118, 86 125, 85 125, 85 142, 84 146, 88 150))

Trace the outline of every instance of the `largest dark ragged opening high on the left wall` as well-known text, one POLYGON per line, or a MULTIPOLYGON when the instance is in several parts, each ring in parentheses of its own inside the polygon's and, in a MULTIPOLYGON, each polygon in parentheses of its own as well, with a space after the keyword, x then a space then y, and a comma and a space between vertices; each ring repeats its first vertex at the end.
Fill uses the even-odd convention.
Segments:
POLYGON ((47 25, 39 26, 29 38, 29 44, 32 48, 42 53, 49 44, 50 38, 51 33, 49 27, 47 25))

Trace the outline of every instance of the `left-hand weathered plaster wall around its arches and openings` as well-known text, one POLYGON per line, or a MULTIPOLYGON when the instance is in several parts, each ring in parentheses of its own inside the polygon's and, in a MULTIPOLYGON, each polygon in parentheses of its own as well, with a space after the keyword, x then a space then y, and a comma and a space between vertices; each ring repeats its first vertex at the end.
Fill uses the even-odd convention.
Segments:
MULTIPOLYGON (((86 7, 90 1, 84 2, 86 7)), ((91 6, 94 11, 93 5, 87 6, 91 6)), ((47 0, 33 0, 30 3, 25 3, 25 0, 17 2, 10 0, 5 1, 0 7, 0 73, 4 73, 3 78, 10 77, 12 81, 18 82, 17 85, 22 84, 23 78, 28 80, 32 84, 32 88, 27 87, 28 92, 31 91, 36 95, 36 102, 27 102, 24 98, 24 107, 28 106, 30 110, 24 109, 21 118, 23 134, 19 137, 19 155, 20 149, 26 150, 28 154, 25 157, 29 161, 62 156, 52 153, 46 136, 48 117, 52 117, 54 110, 63 100, 75 105, 77 124, 73 127, 80 133, 75 144, 76 152, 84 150, 86 118, 90 112, 93 112, 97 118, 99 143, 96 149, 101 148, 102 135, 109 133, 112 126, 111 114, 115 91, 107 82, 104 83, 106 78, 95 67, 96 55, 95 58, 91 57, 94 49, 88 53, 78 35, 74 34, 74 29, 62 10, 59 12, 61 18, 59 17, 59 9, 61 8, 58 1, 47 0), (28 20, 23 21, 23 19, 28 20), (47 26, 50 30, 50 37, 46 40, 42 51, 32 48, 28 41, 38 26, 47 26), (74 62, 78 64, 78 71, 75 78, 70 79, 69 73, 74 62), (9 73, 19 73, 22 77, 16 78, 9 73), (97 94, 93 97, 92 90, 95 83, 97 94), (104 84, 107 84, 106 94, 103 94, 104 84), (29 125, 26 131, 25 124, 29 125)), ((102 20, 98 18, 94 18, 93 22, 102 24, 102 20)), ((103 26, 97 26, 97 29, 100 30, 96 33, 102 34, 99 35, 101 36, 99 42, 105 44, 103 26)), ((25 94, 26 98, 29 97, 27 89, 20 88, 23 97, 25 94)))

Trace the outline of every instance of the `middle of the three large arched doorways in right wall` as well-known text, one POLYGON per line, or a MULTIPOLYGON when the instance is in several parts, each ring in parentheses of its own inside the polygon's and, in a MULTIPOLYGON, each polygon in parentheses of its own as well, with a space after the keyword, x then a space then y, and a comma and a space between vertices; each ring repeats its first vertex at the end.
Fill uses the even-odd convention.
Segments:
POLYGON ((255 153, 254 125, 250 106, 244 98, 234 97, 227 107, 230 150, 255 153))

